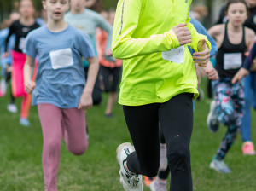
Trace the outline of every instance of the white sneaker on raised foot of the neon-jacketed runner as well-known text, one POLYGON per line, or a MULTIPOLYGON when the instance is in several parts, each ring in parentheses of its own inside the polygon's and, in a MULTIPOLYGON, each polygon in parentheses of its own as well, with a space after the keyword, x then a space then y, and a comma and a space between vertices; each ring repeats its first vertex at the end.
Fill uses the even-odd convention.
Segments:
POLYGON ((129 142, 120 144, 116 149, 116 158, 120 165, 120 183, 125 191, 143 191, 143 176, 130 173, 124 167, 125 160, 134 151, 134 147, 129 142))

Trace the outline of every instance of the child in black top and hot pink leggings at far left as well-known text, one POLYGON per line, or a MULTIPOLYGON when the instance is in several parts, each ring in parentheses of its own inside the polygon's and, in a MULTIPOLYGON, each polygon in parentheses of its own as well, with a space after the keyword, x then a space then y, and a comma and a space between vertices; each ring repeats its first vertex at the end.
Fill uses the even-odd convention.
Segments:
POLYGON ((21 101, 20 124, 27 126, 30 124, 28 114, 31 106, 31 96, 27 95, 23 83, 23 67, 26 55, 23 53, 25 48, 25 38, 29 32, 39 27, 34 19, 35 7, 32 0, 20 0, 20 20, 16 20, 9 27, 9 35, 5 41, 5 53, 3 58, 9 55, 9 38, 15 34, 15 48, 12 51, 12 93, 15 97, 23 97, 21 101))

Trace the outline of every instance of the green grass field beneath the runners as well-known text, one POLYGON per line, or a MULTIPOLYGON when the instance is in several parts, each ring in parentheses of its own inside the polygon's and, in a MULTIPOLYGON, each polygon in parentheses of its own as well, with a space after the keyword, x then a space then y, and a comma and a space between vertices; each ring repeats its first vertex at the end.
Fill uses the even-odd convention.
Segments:
MULTIPOLYGON (((104 96, 106 98, 106 96, 104 96)), ((106 99, 105 99, 106 100, 106 99)), ((29 127, 19 124, 20 115, 6 110, 8 99, 0 98, 0 191, 44 191, 41 167, 42 132, 36 107, 32 107, 29 127)), ((105 101, 104 101, 105 102, 105 101)), ((20 108, 20 101, 17 101, 20 108)), ((104 105, 105 103, 103 103, 104 105)), ((255 191, 256 156, 243 156, 238 136, 225 162, 232 172, 220 174, 208 168, 225 128, 217 134, 207 129, 210 100, 197 101, 191 140, 191 164, 195 191, 255 191)), ((65 145, 61 150, 58 177, 60 191, 121 191, 115 149, 131 142, 122 107, 114 108, 114 118, 103 115, 104 107, 93 107, 87 114, 90 146, 83 156, 73 156, 65 145)), ((253 141, 256 142, 256 115, 253 112, 253 141)), ((144 188, 144 190, 149 190, 144 188)), ((185 191, 185 190, 184 190, 185 191)))

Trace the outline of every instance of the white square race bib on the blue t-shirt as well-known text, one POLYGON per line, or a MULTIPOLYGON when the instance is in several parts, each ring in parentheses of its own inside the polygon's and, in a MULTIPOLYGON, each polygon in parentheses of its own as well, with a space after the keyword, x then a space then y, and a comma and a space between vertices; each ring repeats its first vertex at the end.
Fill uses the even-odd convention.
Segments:
POLYGON ((49 52, 49 57, 53 69, 59 69, 73 65, 73 55, 70 48, 51 51, 49 52))

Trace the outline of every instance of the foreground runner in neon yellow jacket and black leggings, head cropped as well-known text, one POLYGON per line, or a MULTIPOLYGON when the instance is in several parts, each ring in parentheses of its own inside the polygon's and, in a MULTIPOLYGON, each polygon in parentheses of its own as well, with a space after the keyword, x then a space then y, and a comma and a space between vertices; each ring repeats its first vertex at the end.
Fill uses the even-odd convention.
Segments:
POLYGON ((170 190, 192 191, 192 98, 198 96, 195 62, 206 67, 211 44, 189 23, 191 0, 119 0, 113 56, 124 60, 119 103, 131 143, 117 148, 125 191, 143 191, 142 175, 160 166, 159 124, 172 173, 170 190), (198 50, 193 58, 187 44, 198 50))

